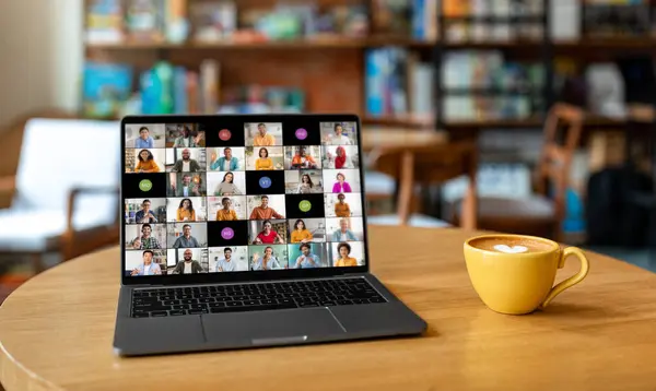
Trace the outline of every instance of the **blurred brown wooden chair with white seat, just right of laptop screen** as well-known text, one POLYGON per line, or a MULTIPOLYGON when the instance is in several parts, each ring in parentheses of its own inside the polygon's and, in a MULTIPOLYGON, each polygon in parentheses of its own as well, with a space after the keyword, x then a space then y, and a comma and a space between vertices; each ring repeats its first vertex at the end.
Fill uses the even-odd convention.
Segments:
POLYGON ((462 220, 462 227, 476 229, 476 145, 468 141, 380 153, 375 162, 376 169, 399 178, 398 210, 394 215, 370 216, 367 222, 379 225, 449 227, 450 224, 445 221, 415 213, 419 210, 415 202, 417 190, 466 174, 470 181, 466 197, 467 216, 462 220))

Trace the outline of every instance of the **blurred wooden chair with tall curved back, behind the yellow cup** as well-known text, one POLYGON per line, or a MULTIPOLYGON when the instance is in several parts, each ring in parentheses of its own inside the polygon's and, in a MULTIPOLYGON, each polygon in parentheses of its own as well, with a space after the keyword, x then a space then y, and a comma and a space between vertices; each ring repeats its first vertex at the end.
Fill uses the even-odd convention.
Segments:
MULTIPOLYGON (((544 144, 534 173, 535 193, 524 199, 483 197, 478 200, 478 227, 504 233, 543 236, 559 240, 565 217, 565 192, 572 156, 578 146, 585 114, 582 109, 555 104, 544 123, 544 144), (564 143, 558 130, 564 126, 564 143), (550 191, 552 190, 552 191, 550 191)), ((457 210, 461 216, 461 206, 457 210)))

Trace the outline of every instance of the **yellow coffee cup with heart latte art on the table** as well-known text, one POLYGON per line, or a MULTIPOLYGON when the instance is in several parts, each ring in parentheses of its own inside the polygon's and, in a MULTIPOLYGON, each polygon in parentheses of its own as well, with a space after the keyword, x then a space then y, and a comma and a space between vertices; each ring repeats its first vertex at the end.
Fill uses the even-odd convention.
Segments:
POLYGON ((578 284, 589 263, 576 247, 524 235, 483 235, 465 241, 465 261, 473 288, 481 300, 501 313, 529 313, 547 307, 566 288, 578 284), (575 256, 581 270, 553 286, 555 273, 575 256))

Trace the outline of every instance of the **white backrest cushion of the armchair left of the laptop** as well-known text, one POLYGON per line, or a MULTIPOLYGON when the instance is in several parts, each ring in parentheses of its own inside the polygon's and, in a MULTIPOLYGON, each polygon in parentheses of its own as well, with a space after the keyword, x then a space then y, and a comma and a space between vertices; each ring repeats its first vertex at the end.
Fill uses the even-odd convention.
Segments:
POLYGON ((16 173, 19 208, 63 211, 75 186, 118 187, 120 123, 32 119, 16 173))

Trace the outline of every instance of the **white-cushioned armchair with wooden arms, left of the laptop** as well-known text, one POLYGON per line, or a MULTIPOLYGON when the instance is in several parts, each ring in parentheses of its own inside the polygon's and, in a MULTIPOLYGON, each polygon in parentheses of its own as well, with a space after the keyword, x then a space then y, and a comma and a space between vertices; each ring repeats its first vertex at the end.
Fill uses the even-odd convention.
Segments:
POLYGON ((0 253, 62 260, 118 242, 120 127, 56 112, 10 131, 22 133, 15 176, 0 178, 12 194, 0 210, 0 253))

